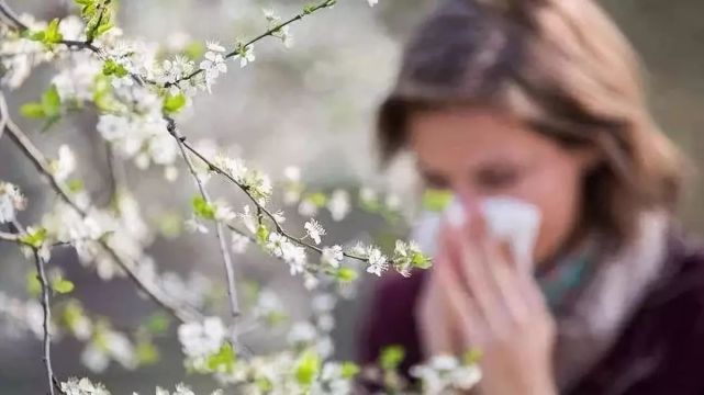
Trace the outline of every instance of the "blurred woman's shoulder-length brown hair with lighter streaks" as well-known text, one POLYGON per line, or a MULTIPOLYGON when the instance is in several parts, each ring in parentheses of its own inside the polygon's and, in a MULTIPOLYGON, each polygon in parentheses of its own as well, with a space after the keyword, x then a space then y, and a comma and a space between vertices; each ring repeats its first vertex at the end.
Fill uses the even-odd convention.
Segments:
POLYGON ((679 153, 647 110, 638 59, 591 0, 445 0, 407 44, 379 114, 384 161, 406 144, 420 111, 505 111, 567 147, 593 147, 584 211, 615 244, 641 212, 671 210, 679 153))

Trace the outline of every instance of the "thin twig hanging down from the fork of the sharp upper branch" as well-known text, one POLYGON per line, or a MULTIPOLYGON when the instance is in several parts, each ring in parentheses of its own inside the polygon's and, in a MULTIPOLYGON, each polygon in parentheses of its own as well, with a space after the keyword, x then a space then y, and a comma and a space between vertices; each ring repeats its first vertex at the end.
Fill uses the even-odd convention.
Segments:
MULTIPOLYGON (((186 151, 186 148, 183 148, 182 140, 180 136, 178 135, 178 131, 176 129, 176 124, 174 123, 174 120, 167 119, 168 122, 168 128, 169 133, 174 135, 176 138, 176 142, 178 143, 179 150, 181 151, 181 156, 183 157, 183 161, 186 162, 186 166, 188 167, 188 170, 190 171, 193 181, 195 181, 195 185, 198 187, 198 190, 200 191, 201 196, 205 201, 206 204, 212 204, 212 200, 210 199, 210 195, 208 191, 205 190, 205 185, 203 185, 203 181, 200 179, 198 176, 198 172, 195 171, 195 168, 193 167, 193 161, 191 158, 188 156, 188 153, 186 151)), ((225 239, 225 230, 223 228, 222 222, 215 219, 215 232, 217 236, 217 241, 220 244, 220 253, 223 257, 223 264, 225 267, 225 275, 227 278, 227 296, 230 298, 230 311, 232 313, 232 329, 231 329, 231 341, 233 347, 237 347, 237 319, 239 318, 241 312, 239 312, 239 301, 237 298, 237 281, 235 279, 235 270, 232 264, 232 257, 230 255, 230 248, 227 246, 227 240, 225 239)))

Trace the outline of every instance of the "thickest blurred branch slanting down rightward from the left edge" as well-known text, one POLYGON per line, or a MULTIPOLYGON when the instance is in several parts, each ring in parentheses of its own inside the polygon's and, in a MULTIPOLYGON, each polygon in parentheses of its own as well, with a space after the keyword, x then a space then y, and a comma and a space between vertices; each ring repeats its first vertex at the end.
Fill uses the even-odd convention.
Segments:
MULTIPOLYGON (((0 93, 0 98, 4 100, 3 94, 0 93)), ((5 123, 5 132, 9 134, 10 138, 16 144, 22 154, 32 161, 34 167, 40 171, 44 179, 48 182, 49 187, 56 192, 56 194, 71 208, 74 208, 82 218, 88 216, 88 211, 81 208, 74 200, 68 195, 64 188, 58 183, 56 178, 52 174, 52 169, 48 165, 48 160, 44 157, 42 151, 34 146, 30 138, 22 132, 14 122, 9 117, 8 113, 1 114, 5 123)), ((186 308, 186 306, 179 306, 174 301, 170 301, 166 294, 161 292, 156 286, 153 286, 147 281, 143 280, 137 271, 133 268, 133 264, 125 262, 115 250, 108 245, 107 240, 103 238, 97 240, 102 249, 104 249, 110 258, 114 260, 120 268, 122 268, 127 276, 142 290, 144 291, 157 305, 164 307, 171 315, 178 319, 185 321, 199 317, 198 312, 186 308)))

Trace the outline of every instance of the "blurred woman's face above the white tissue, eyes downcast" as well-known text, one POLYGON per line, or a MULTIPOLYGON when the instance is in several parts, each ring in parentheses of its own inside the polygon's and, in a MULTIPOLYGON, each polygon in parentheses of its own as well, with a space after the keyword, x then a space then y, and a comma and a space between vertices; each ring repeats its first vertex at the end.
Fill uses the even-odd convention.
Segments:
POLYGON ((456 109, 410 120, 411 148, 429 188, 450 189, 460 201, 507 195, 536 205, 543 215, 536 262, 562 247, 579 218, 582 176, 592 161, 496 112, 456 109))

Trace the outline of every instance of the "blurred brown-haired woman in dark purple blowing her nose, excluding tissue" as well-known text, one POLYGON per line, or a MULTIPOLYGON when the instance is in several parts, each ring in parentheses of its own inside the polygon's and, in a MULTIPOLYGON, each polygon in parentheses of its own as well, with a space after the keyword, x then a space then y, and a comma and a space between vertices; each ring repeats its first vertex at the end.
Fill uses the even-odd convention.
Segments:
POLYGON ((681 162, 595 3, 442 2, 379 121, 384 156, 410 149, 463 214, 429 272, 382 282, 366 362, 477 348, 482 394, 704 394, 704 255, 671 218, 681 162), (478 207, 498 195, 541 214, 535 275, 487 235, 478 207))

